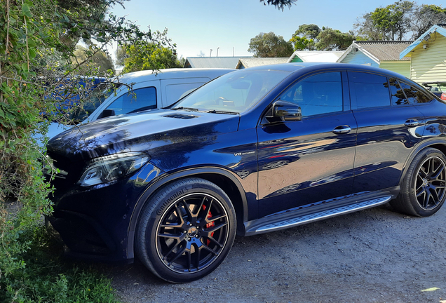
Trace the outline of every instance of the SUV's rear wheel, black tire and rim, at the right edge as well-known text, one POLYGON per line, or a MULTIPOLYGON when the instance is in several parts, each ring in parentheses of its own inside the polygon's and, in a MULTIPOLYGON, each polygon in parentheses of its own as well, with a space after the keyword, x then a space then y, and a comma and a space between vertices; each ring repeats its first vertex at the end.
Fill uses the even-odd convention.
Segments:
POLYGON ((445 198, 446 157, 438 149, 427 148, 410 163, 391 206, 407 215, 427 217, 441 208, 445 198))

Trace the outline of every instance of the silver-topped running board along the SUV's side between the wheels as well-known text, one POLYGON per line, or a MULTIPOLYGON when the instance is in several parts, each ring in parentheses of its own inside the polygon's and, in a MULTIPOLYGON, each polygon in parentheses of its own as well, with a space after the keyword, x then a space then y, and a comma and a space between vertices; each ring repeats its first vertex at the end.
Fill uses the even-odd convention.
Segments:
MULTIPOLYGON (((264 222, 264 224, 252 224, 246 231, 245 236, 251 236, 254 234, 264 234, 270 231, 277 231, 280 229, 288 229, 290 227, 297 227, 302 224, 315 222, 318 220, 324 220, 330 217, 335 217, 337 215, 344 215, 347 213, 353 213, 358 210, 364 210, 367 208, 372 208, 385 204, 391 201, 393 196, 381 196, 378 198, 373 198, 367 201, 360 201, 358 203, 352 203, 349 205, 339 206, 336 208, 330 208, 326 210, 321 210, 316 213, 311 213, 307 215, 301 215, 297 217, 288 217, 287 219, 276 219, 264 222)), ((272 218, 271 218, 272 219, 272 218)))

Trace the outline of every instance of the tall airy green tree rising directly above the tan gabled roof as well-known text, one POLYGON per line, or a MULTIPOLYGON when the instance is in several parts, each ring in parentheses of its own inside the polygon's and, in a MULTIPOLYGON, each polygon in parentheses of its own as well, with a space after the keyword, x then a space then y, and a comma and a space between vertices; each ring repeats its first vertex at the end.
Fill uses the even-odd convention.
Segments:
POLYGON ((366 13, 355 27, 362 39, 401 41, 410 32, 413 8, 413 1, 396 1, 366 13))

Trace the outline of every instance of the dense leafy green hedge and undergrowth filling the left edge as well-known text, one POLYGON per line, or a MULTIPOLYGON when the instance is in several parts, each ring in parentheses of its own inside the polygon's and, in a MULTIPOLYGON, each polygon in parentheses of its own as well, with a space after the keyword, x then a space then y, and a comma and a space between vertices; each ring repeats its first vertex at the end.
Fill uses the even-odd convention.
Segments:
MULTIPOLYGON (((45 132, 48 121, 43 114, 60 112, 57 105, 66 96, 79 94, 76 106, 82 106, 86 88, 67 85, 67 79, 107 76, 88 63, 107 57, 109 41, 172 47, 165 32, 142 32, 132 22, 107 13, 109 6, 122 3, 0 1, 1 302, 113 302, 109 281, 97 273, 62 266, 58 258, 51 262, 35 257, 41 249, 48 253, 35 227, 42 215, 51 212, 52 189, 41 169, 43 149, 33 135, 45 132), (80 39, 88 48, 73 62, 80 39)), ((64 110, 69 113, 76 107, 64 110)))

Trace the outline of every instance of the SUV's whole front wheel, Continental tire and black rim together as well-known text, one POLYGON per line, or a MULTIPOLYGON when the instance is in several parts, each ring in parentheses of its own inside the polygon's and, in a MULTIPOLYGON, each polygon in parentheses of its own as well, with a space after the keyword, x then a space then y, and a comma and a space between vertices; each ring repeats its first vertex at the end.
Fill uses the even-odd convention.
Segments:
POLYGON ((217 185, 200 178, 178 180, 145 203, 135 250, 156 276, 186 283, 210 274, 227 257, 236 235, 236 213, 217 185))

